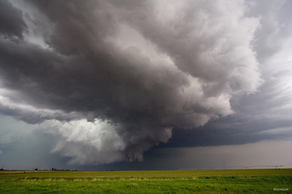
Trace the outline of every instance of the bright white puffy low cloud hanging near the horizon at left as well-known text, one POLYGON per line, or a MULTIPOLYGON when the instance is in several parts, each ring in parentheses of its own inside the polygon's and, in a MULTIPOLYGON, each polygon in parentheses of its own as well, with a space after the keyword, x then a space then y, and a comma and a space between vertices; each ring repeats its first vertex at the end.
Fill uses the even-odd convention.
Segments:
POLYGON ((116 126, 106 121, 94 123, 83 120, 60 122, 46 120, 36 125, 37 130, 52 135, 58 143, 52 152, 72 157, 69 164, 102 164, 125 160, 126 144, 115 131, 116 126))

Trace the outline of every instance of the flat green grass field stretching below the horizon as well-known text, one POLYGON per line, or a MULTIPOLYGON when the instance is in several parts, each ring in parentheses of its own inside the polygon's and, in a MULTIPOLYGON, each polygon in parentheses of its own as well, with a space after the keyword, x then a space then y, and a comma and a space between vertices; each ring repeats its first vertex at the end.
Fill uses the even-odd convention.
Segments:
POLYGON ((292 169, 31 173, 2 171, 0 174, 1 194, 292 193, 291 190, 292 169))

